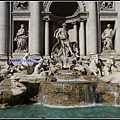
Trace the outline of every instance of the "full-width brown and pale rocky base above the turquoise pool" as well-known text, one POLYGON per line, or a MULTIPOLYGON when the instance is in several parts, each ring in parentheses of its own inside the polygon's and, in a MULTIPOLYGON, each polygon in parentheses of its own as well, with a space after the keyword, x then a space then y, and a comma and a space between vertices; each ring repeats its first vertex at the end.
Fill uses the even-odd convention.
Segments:
POLYGON ((47 76, 15 74, 0 82, 0 107, 40 102, 49 105, 120 103, 120 74, 105 77, 81 76, 81 80, 58 80, 47 76))

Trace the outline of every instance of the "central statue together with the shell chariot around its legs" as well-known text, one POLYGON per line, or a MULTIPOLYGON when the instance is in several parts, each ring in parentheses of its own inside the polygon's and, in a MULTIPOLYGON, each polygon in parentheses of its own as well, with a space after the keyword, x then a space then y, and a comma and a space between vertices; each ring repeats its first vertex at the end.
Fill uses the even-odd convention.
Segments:
POLYGON ((72 56, 74 54, 74 47, 69 41, 68 31, 66 29, 66 23, 62 24, 62 28, 58 28, 54 32, 54 37, 58 40, 57 43, 53 46, 52 52, 58 54, 58 56, 72 56))

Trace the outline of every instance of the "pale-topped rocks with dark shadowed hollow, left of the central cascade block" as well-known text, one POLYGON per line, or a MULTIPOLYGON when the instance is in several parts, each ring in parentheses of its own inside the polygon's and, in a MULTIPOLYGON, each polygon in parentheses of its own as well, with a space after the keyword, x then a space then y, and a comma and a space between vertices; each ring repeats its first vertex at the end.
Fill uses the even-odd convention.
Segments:
POLYGON ((41 81, 54 81, 52 76, 25 75, 16 73, 0 82, 0 107, 37 102, 41 81))

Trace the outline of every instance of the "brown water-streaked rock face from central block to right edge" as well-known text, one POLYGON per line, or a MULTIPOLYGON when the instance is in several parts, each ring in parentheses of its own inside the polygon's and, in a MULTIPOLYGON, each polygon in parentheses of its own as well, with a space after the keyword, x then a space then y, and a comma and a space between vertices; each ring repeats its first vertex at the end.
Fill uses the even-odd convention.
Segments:
POLYGON ((119 105, 120 86, 106 82, 43 82, 39 88, 38 102, 56 106, 91 103, 119 105))

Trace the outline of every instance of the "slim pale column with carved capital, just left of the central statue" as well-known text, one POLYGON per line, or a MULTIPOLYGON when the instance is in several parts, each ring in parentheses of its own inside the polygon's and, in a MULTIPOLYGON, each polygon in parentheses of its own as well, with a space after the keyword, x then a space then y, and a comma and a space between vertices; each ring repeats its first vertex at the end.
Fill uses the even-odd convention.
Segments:
POLYGON ((44 18, 45 20, 45 56, 49 56, 49 16, 44 18))

